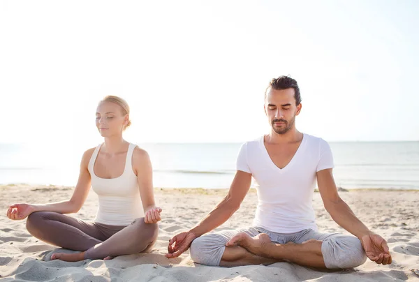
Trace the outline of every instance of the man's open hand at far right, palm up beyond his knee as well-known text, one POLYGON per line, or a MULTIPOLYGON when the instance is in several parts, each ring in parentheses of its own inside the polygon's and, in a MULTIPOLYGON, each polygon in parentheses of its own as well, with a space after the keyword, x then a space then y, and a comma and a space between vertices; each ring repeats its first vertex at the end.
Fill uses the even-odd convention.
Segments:
POLYGON ((392 259, 388 250, 387 242, 380 235, 371 233, 361 237, 362 248, 364 248, 367 257, 378 265, 390 265, 392 259))

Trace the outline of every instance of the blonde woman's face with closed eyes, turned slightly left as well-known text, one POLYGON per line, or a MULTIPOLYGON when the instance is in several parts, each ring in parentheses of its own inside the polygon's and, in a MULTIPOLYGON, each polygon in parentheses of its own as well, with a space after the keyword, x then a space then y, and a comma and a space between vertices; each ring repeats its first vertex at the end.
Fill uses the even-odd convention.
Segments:
POLYGON ((96 110, 96 127, 102 137, 122 134, 128 123, 128 114, 122 114, 122 107, 112 102, 101 102, 96 110))

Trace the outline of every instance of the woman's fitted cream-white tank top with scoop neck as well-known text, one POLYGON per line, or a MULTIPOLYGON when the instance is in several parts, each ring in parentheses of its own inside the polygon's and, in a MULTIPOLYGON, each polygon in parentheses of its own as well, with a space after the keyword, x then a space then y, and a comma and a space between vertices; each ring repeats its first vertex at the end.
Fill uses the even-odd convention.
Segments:
POLYGON ((125 168, 116 178, 101 178, 94 174, 94 163, 102 144, 94 150, 89 161, 91 188, 98 195, 99 208, 94 219, 108 225, 129 225, 135 218, 144 216, 137 176, 133 172, 132 158, 135 144, 129 144, 125 168))

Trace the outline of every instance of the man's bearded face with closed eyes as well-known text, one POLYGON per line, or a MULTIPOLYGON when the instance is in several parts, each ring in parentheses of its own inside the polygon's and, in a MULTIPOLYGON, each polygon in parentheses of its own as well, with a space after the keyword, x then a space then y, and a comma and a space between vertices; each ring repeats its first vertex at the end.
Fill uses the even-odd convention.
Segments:
POLYGON ((265 114, 274 132, 285 134, 294 126, 295 116, 300 114, 300 105, 295 105, 293 88, 268 89, 265 98, 265 114))

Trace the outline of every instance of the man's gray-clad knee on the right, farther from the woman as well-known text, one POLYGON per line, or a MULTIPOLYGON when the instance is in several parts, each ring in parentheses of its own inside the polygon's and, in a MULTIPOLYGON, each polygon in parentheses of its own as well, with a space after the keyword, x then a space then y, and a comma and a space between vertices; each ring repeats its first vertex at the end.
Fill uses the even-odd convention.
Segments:
POLYGON ((364 248, 357 237, 341 236, 326 239, 322 252, 328 268, 358 267, 367 260, 364 248))

